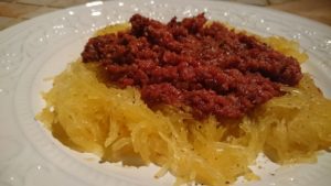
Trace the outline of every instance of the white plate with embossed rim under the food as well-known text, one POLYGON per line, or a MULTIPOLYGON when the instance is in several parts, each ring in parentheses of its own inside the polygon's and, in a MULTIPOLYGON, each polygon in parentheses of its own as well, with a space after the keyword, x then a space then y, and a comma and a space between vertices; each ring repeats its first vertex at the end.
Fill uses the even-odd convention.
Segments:
MULTIPOLYGON (((0 185, 8 186, 113 186, 164 185, 173 177, 154 179, 156 166, 134 168, 98 164, 89 154, 73 152, 54 140, 34 120, 41 109, 43 81, 76 59, 92 33, 106 24, 127 21, 134 13, 168 21, 173 15, 206 12, 263 35, 281 35, 300 42, 310 56, 302 67, 310 72, 324 94, 331 96, 331 29, 299 17, 267 9, 217 1, 126 0, 95 1, 50 13, 0 33, 0 185)), ((330 185, 331 154, 317 164, 277 168, 264 158, 255 183, 237 185, 330 185)))

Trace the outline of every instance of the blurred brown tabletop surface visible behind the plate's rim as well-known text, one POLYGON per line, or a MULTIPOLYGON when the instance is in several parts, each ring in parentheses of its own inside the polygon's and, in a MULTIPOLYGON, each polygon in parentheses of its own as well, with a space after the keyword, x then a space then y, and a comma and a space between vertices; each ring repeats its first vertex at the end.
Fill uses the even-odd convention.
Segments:
MULTIPOLYGON (((224 0, 276 9, 331 25, 331 0, 224 0)), ((43 13, 88 0, 0 0, 0 31, 43 13)))

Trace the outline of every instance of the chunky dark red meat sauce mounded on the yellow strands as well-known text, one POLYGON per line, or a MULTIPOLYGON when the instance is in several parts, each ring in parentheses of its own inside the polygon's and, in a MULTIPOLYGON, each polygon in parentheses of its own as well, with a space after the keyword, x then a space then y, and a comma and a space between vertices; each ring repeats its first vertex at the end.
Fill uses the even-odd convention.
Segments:
POLYGON ((280 84, 302 77, 295 58, 221 23, 204 26, 204 14, 168 24, 135 14, 130 23, 130 31, 90 39, 83 62, 99 63, 121 88, 139 88, 149 107, 189 106, 197 119, 241 118, 281 96, 280 84))

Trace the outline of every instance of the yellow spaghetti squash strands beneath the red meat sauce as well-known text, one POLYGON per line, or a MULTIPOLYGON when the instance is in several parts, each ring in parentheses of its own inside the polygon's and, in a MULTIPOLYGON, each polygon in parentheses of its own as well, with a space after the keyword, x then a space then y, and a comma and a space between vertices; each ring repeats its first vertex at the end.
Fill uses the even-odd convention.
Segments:
MULTIPOLYGON (((97 35, 130 30, 111 25, 97 35)), ((305 61, 296 44, 279 37, 258 39, 285 55, 305 61)), ((282 95, 243 117, 196 118, 171 105, 151 108, 135 86, 107 81, 96 63, 71 63, 43 94, 46 107, 38 120, 64 145, 97 154, 108 162, 160 166, 174 185, 201 183, 220 186, 250 175, 263 152, 280 164, 314 161, 331 145, 331 101, 309 74, 296 86, 280 85, 282 95)))

